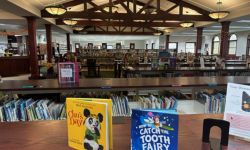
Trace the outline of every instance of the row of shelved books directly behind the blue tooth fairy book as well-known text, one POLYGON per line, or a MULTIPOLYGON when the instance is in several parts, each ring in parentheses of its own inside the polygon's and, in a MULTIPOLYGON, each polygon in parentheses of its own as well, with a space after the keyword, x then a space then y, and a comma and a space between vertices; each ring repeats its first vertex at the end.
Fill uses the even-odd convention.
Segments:
POLYGON ((141 109, 177 109, 177 99, 171 97, 156 97, 149 95, 148 97, 139 97, 141 109))

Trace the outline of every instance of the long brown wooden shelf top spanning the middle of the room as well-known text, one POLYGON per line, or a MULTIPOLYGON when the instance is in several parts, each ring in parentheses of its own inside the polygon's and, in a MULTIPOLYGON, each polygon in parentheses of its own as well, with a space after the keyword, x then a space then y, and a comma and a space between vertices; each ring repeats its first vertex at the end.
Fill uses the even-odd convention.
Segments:
POLYGON ((174 78, 91 78, 80 79, 77 84, 59 84, 57 79, 4 81, 0 84, 0 91, 42 91, 57 92, 67 90, 126 90, 126 89, 157 89, 177 87, 208 87, 226 86, 227 83, 250 84, 248 76, 218 76, 218 77, 174 77, 174 78), (47 91, 46 91, 47 90, 47 91))

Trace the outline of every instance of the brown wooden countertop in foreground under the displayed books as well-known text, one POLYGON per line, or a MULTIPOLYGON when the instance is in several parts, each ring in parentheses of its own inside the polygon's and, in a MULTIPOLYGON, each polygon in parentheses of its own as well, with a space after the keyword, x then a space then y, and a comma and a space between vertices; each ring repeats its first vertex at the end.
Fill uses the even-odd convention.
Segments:
MULTIPOLYGON (((179 150, 205 150, 201 134, 204 118, 222 115, 181 115, 179 150)), ((113 125, 114 150, 130 149, 130 119, 113 125)), ((212 137, 219 135, 212 129, 212 137)), ((70 150, 67 145, 66 121, 0 123, 0 149, 4 150, 70 150)), ((228 150, 249 150, 250 143, 230 137, 228 150)))

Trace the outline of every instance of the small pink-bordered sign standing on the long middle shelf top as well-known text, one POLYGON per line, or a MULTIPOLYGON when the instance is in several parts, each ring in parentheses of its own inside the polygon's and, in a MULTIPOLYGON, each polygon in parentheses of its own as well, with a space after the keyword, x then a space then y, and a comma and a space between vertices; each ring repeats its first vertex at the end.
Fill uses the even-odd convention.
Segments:
POLYGON ((79 82, 78 63, 66 62, 58 63, 59 83, 75 83, 79 82))

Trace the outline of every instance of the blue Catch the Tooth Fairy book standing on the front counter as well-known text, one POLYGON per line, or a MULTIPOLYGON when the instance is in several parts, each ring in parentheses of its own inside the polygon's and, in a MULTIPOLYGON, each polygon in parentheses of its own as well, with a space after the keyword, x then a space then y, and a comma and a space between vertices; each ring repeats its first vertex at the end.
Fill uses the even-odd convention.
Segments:
POLYGON ((131 150, 178 150, 174 110, 132 110, 131 150))

